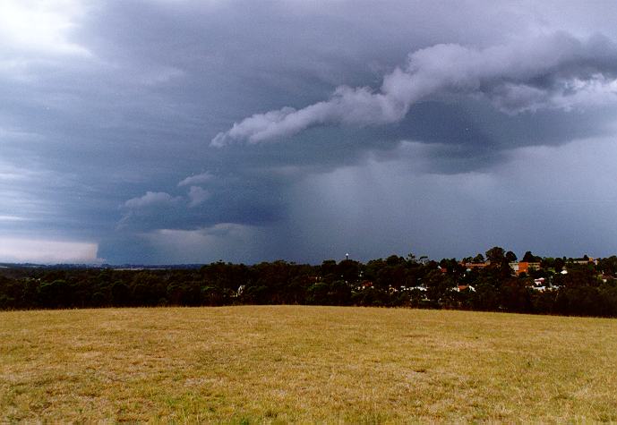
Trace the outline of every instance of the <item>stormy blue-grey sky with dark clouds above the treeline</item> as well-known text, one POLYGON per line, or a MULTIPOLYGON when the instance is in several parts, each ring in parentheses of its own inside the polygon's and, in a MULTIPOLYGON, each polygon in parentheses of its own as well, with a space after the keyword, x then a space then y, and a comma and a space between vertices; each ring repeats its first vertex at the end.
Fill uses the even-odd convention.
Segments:
POLYGON ((617 253, 617 4, 0 0, 0 262, 617 253))

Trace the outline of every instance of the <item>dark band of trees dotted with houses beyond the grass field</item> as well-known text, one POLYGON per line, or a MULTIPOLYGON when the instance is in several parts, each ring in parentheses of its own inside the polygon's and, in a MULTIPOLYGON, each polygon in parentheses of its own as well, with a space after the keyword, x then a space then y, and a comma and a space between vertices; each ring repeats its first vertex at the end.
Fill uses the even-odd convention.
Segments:
POLYGON ((482 268, 412 254, 320 266, 274 261, 153 270, 5 268, 0 309, 320 304, 617 317, 617 257, 585 264, 531 257, 541 267, 516 276, 512 256, 495 247, 486 259, 466 259, 483 259, 488 264, 482 268))

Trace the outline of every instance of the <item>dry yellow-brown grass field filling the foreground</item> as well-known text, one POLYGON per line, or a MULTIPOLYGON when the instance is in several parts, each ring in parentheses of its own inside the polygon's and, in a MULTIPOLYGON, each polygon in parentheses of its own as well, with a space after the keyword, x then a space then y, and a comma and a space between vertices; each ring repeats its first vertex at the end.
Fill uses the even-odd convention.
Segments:
POLYGON ((617 421, 614 319, 18 311, 0 342, 0 422, 617 421))

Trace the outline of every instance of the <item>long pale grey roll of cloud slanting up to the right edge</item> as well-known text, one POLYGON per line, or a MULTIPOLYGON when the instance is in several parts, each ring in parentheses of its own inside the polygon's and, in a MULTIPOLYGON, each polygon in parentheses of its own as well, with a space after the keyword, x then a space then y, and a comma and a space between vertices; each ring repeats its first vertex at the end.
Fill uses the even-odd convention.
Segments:
POLYGON ((245 118, 211 145, 278 140, 318 125, 396 123, 416 102, 443 94, 486 98, 507 114, 603 105, 617 100, 616 76, 617 47, 601 35, 582 40, 556 32, 482 49, 440 44, 409 55, 379 91, 341 86, 311 106, 245 118))

